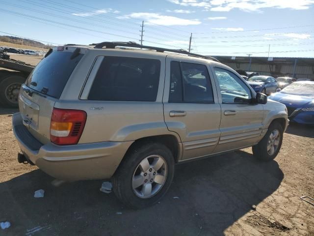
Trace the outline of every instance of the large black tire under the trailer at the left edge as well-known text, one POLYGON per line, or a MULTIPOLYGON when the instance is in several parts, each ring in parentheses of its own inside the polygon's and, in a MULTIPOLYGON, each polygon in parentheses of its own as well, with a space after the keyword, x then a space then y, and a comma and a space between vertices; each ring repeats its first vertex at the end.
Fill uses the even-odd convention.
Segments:
POLYGON ((18 73, 7 73, 0 81, 0 102, 5 107, 19 107, 19 92, 26 78, 18 73))

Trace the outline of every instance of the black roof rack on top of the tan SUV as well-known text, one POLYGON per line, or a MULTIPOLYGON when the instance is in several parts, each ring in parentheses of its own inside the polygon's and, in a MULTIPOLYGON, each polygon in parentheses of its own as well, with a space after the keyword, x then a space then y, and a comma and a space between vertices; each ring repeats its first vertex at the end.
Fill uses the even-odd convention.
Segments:
POLYGON ((217 62, 220 62, 219 60, 209 57, 209 56, 204 56, 200 54, 195 54, 195 53, 189 53, 184 49, 168 49, 168 48, 158 48, 158 47, 152 47, 152 46, 144 46, 140 45, 135 42, 102 42, 102 43, 93 43, 90 44, 90 46, 95 46, 94 48, 111 48, 114 49, 115 47, 129 47, 129 48, 145 48, 145 49, 153 49, 156 50, 157 52, 163 53, 163 52, 172 52, 172 53, 180 53, 180 54, 185 54, 193 57, 198 57, 198 58, 203 58, 203 59, 209 59, 209 60, 214 60, 217 62))

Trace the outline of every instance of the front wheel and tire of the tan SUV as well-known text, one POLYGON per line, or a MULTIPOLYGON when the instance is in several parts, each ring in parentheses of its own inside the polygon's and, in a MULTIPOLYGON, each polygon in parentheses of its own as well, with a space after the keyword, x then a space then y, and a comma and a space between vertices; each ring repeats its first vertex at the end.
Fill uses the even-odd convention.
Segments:
POLYGON ((253 155, 261 161, 271 161, 278 155, 283 142, 283 127, 273 121, 262 140, 252 147, 253 155), (278 136, 277 136, 278 135, 278 136))

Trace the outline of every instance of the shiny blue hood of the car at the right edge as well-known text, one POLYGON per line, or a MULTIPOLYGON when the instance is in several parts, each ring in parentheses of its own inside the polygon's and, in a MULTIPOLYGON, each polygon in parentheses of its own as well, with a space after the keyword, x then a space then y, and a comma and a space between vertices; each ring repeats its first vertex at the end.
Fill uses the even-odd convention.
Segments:
POLYGON ((313 107, 314 106, 314 98, 313 97, 305 97, 299 95, 291 95, 282 92, 275 92, 271 94, 269 99, 281 102, 288 107, 313 107))

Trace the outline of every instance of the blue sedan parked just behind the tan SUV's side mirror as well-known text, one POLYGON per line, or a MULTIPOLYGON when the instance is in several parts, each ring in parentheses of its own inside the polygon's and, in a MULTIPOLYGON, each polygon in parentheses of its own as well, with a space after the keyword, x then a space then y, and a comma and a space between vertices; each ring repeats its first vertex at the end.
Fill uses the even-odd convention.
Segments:
POLYGON ((248 79, 249 85, 256 91, 264 94, 276 92, 279 88, 275 78, 266 75, 255 75, 248 79))

